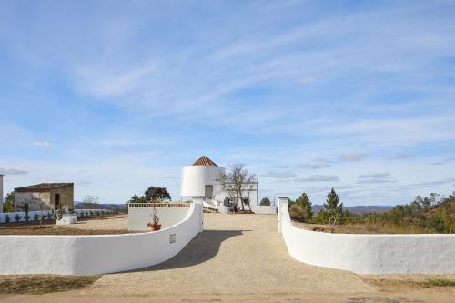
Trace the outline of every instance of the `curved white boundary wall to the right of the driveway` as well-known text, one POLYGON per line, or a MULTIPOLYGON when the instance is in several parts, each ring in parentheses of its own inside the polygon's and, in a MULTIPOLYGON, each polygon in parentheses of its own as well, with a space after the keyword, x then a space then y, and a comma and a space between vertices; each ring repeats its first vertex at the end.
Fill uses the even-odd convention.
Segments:
POLYGON ((329 234, 295 227, 280 198, 278 231, 300 262, 358 274, 455 274, 455 235, 329 234))

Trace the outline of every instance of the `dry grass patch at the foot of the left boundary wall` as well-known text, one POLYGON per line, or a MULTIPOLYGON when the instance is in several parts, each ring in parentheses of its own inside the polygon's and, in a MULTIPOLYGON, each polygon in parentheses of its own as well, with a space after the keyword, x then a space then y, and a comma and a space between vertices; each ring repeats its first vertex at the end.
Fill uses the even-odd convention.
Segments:
POLYGON ((84 288, 101 276, 0 276, 0 294, 45 294, 84 288))

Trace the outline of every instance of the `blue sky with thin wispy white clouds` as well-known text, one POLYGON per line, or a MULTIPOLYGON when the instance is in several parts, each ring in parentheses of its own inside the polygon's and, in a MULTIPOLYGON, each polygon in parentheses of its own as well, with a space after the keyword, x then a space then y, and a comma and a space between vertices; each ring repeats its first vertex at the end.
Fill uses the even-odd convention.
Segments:
POLYGON ((179 199, 181 167, 260 196, 390 205, 455 190, 450 1, 1 1, 5 190, 179 199))

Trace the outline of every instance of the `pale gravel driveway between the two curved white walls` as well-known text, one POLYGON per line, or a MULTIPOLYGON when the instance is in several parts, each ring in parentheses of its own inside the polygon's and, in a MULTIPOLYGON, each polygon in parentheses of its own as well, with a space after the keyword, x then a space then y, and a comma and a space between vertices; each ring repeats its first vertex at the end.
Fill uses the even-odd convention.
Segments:
POLYGON ((280 293, 375 291, 353 273, 299 263, 288 255, 275 215, 205 214, 205 231, 175 258, 104 275, 96 292, 280 293), (121 285, 121 288, 118 286, 121 285))

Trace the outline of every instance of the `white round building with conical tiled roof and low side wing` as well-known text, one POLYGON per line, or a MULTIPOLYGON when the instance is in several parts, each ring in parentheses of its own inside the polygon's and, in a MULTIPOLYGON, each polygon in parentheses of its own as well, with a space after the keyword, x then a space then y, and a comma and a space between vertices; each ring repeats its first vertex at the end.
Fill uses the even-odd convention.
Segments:
MULTIPOLYGON (((217 181, 226 174, 224 167, 218 167, 215 162, 202 156, 190 166, 182 168, 182 199, 190 200, 193 197, 206 197, 208 202, 222 211, 232 204, 228 193, 223 190, 217 181)), ((258 206, 258 182, 245 184, 243 201, 249 204, 254 212, 275 213, 276 207, 258 206)), ((247 207, 248 208, 248 207, 247 207)))

